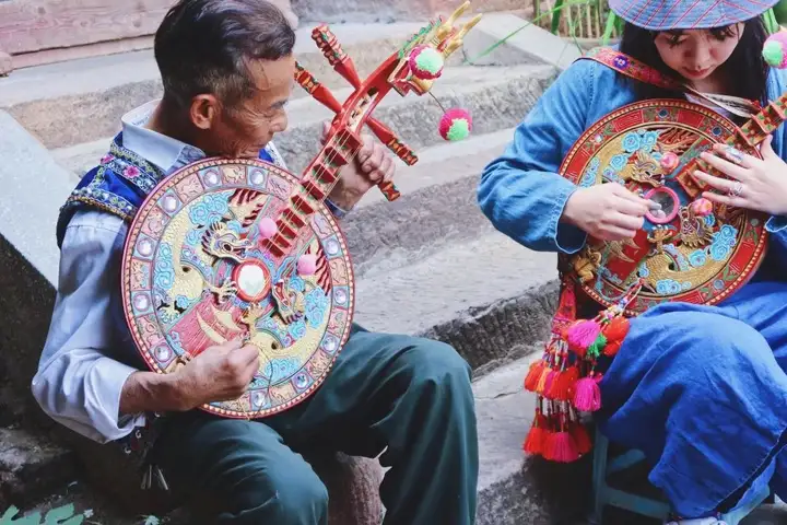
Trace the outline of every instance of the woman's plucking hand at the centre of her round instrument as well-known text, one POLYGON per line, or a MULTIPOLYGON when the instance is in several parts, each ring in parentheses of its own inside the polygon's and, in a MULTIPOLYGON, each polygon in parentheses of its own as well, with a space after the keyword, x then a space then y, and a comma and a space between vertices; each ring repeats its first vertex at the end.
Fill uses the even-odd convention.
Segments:
POLYGON ((579 188, 568 198, 563 220, 601 241, 623 241, 643 228, 645 214, 660 206, 616 183, 579 188))

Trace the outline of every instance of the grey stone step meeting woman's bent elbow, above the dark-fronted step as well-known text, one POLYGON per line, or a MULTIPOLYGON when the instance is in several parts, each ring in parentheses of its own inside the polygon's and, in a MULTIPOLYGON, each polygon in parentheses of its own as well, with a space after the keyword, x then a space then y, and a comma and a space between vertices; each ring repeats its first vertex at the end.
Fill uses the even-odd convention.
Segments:
POLYGON ((428 148, 414 166, 400 163, 401 197, 388 202, 373 189, 341 223, 356 275, 375 265, 402 266, 490 233, 492 224, 478 205, 478 182, 513 137, 513 129, 480 135, 428 148))

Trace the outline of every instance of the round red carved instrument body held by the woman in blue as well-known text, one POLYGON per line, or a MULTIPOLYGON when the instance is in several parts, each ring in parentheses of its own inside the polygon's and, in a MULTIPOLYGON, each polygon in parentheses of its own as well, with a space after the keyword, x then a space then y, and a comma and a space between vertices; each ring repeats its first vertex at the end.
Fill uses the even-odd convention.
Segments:
POLYGON ((704 106, 658 100, 625 106, 583 135, 561 167, 564 177, 579 186, 620 183, 663 212, 648 214, 633 240, 590 238, 571 258, 588 295, 609 306, 642 279, 629 305, 636 314, 666 301, 716 304, 745 283, 765 255, 763 215, 712 206, 695 189, 689 166, 736 130, 704 106))

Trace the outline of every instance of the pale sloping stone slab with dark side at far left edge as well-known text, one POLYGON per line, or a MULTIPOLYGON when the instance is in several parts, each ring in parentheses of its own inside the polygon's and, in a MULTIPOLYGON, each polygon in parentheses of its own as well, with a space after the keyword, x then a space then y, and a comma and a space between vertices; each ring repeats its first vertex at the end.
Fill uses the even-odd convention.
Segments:
POLYGON ((2 110, 0 137, 0 404, 19 410, 34 408, 30 382, 46 340, 58 279, 55 224, 71 185, 47 150, 2 110))

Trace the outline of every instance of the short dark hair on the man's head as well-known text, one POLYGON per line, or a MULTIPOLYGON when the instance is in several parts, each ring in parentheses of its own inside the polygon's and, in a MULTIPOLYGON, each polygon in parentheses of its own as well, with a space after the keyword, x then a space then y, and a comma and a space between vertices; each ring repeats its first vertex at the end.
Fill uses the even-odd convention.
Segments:
POLYGON ((233 106, 254 93, 248 61, 279 60, 294 45, 286 16, 266 0, 179 0, 155 34, 164 98, 186 107, 212 93, 233 106))

